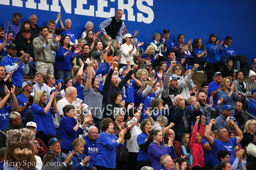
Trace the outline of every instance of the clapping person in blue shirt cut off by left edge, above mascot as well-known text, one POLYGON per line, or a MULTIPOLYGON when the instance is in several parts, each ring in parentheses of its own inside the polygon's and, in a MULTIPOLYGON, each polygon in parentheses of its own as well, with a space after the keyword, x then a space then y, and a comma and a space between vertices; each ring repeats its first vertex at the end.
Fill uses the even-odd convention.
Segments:
POLYGON ((9 120, 9 116, 11 112, 14 112, 18 108, 18 101, 14 94, 15 87, 12 90, 8 90, 5 85, 4 92, 0 92, 0 130, 5 130, 9 120), (8 106, 7 102, 9 97, 12 96, 14 104, 12 106, 8 106))

